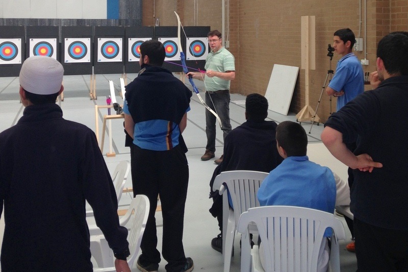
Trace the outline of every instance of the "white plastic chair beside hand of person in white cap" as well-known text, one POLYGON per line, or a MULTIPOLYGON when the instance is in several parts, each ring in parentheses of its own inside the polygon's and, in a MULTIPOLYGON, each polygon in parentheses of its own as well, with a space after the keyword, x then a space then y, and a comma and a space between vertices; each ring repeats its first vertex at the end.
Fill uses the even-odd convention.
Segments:
MULTIPOLYGON (((146 227, 147 217, 149 215, 150 203, 146 195, 138 194, 132 200, 126 214, 119 219, 120 226, 130 224, 130 232, 127 235, 129 242, 129 250, 131 255, 127 257, 129 267, 133 267, 133 263, 139 253, 140 243, 142 241, 144 229, 146 227)), ((91 236, 90 248, 92 256, 95 258, 98 268, 94 271, 108 272, 116 271, 114 265, 114 256, 109 248, 108 242, 104 235, 91 236)))

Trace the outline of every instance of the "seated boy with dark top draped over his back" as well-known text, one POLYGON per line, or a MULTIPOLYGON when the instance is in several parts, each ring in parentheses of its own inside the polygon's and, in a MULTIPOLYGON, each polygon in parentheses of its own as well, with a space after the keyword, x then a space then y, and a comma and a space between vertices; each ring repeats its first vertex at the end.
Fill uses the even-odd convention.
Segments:
MULTIPOLYGON (((282 162, 275 148, 274 121, 266 121, 268 116, 268 100, 258 93, 249 94, 245 100, 245 118, 241 126, 233 129, 225 138, 224 160, 215 168, 210 181, 210 198, 214 204, 211 214, 218 219, 222 233, 222 196, 218 190, 213 191, 214 179, 223 171, 253 170, 269 172, 282 162)), ((211 241, 214 250, 222 251, 222 236, 211 241)))

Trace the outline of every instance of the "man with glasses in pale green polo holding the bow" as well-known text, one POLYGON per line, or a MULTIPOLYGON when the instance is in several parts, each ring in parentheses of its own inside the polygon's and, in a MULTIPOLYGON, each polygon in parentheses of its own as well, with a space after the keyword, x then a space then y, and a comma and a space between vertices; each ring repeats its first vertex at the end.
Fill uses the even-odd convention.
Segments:
MULTIPOLYGON (((223 138, 231 131, 230 123, 230 83, 235 79, 235 58, 222 46, 221 33, 213 30, 208 33, 208 42, 211 52, 206 60, 206 73, 189 72, 194 79, 203 80, 206 87, 206 104, 212 108, 220 117, 223 131, 223 138)), ((206 153, 201 160, 208 161, 215 157, 215 135, 216 118, 206 110, 206 133, 207 146, 206 153)), ((215 163, 222 162, 223 155, 215 160, 215 163)))

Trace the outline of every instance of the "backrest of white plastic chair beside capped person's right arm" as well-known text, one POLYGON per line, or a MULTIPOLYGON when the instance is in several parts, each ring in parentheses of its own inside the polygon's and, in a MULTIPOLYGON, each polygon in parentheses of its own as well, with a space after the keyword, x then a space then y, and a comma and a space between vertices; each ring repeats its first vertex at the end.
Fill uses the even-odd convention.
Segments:
POLYGON ((128 219, 130 225, 130 232, 127 235, 127 241, 129 242, 129 251, 131 255, 127 257, 127 263, 132 267, 139 253, 140 243, 142 242, 142 237, 144 229, 146 227, 147 217, 149 215, 150 203, 149 199, 144 194, 137 194, 132 200, 129 209, 126 214, 120 218, 121 226, 123 222, 122 219, 128 219))

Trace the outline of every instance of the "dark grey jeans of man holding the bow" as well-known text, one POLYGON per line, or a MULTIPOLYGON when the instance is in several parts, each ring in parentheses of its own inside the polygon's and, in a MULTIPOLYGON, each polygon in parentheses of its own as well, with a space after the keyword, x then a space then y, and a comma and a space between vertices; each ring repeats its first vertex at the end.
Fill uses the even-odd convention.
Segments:
MULTIPOLYGON (((222 90, 213 93, 206 92, 206 104, 213 109, 221 119, 223 131, 223 138, 231 131, 230 122, 230 91, 222 90), (211 98, 210 98, 211 96, 211 98), (215 106, 215 109, 214 109, 215 106)), ((206 134, 207 134, 207 146, 206 150, 215 152, 215 134, 216 134, 216 122, 215 116, 206 109, 206 134)), ((218 124, 217 124, 218 125, 218 124)))

